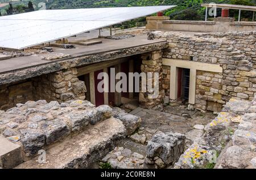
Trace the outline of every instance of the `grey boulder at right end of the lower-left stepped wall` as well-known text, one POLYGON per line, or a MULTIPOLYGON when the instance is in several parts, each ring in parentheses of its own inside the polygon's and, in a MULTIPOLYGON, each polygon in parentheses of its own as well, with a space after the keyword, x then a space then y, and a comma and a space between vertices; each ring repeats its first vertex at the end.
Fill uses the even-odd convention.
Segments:
POLYGON ((125 113, 123 110, 119 108, 114 108, 113 109, 113 116, 114 118, 120 119, 123 124, 126 127, 126 135, 131 135, 139 126, 141 126, 141 118, 125 113))

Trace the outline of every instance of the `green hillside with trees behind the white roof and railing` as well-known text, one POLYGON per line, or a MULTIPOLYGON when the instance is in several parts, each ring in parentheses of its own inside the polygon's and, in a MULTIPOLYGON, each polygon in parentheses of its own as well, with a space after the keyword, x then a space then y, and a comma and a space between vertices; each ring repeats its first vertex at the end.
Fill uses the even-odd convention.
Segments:
MULTIPOLYGON (((31 0, 30 0, 31 1, 31 0)), ((35 10, 42 8, 40 2, 46 0, 32 0, 35 10)), ((201 7, 201 3, 231 3, 237 5, 255 6, 256 0, 48 0, 46 2, 47 9, 65 9, 65 8, 93 8, 93 7, 131 7, 131 6, 159 6, 159 5, 176 5, 164 12, 175 20, 203 20, 205 8, 201 7)), ((0 0, 1 2, 9 2, 8 0, 0 0)), ((13 1, 13 6, 27 6, 28 0, 13 1)), ((6 8, 6 7, 5 7, 6 8)), ((3 8, 2 8, 3 9, 3 8)), ((19 8, 20 9, 20 8, 19 8)), ((24 9, 24 7, 23 7, 24 9)), ((218 10, 218 15, 221 10, 218 10)), ((237 10, 231 10, 230 16, 237 17, 237 10)), ((252 12, 242 12, 243 18, 250 19, 252 12)), ((145 21, 144 18, 135 20, 135 22, 145 21)), ((130 22, 131 23, 131 22, 130 22)), ((134 24, 134 21, 132 22, 134 24)))

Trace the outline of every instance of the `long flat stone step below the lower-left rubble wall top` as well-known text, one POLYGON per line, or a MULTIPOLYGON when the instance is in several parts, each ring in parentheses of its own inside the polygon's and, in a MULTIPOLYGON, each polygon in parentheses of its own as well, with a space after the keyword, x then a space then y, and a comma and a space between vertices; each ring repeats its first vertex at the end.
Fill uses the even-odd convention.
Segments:
POLYGON ((43 156, 23 162, 17 169, 90 168, 115 147, 115 142, 125 137, 126 129, 119 119, 109 118, 89 130, 67 138, 46 150, 46 163, 39 163, 43 156))

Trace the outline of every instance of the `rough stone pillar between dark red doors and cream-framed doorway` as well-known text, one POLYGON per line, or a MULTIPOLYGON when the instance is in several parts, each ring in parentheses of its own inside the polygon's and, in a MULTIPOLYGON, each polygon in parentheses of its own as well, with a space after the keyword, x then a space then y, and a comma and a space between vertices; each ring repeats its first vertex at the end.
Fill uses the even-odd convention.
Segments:
MULTIPOLYGON (((143 108, 151 109, 154 108, 156 105, 162 104, 164 98, 164 90, 163 90, 163 68, 162 68, 162 51, 157 50, 151 53, 142 54, 142 72, 146 74, 148 72, 152 72, 152 81, 151 79, 147 78, 147 81, 151 81, 154 84, 154 76, 155 73, 159 74, 159 81, 158 82, 158 97, 150 98, 150 96, 154 93, 148 91, 142 92, 139 95, 139 102, 143 108)), ((148 77, 148 75, 147 75, 148 77)), ((142 81, 143 82, 143 81, 142 81)), ((148 83, 147 83, 148 84, 148 83)), ((141 85, 143 85, 141 83, 141 85)))

